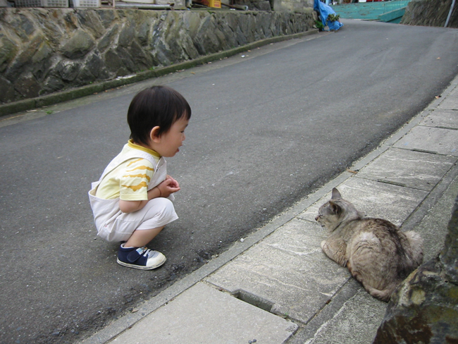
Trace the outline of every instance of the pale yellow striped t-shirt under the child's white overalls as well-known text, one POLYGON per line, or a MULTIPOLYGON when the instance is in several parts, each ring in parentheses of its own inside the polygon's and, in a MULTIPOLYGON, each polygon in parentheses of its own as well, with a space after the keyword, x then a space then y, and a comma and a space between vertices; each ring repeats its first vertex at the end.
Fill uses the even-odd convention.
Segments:
MULTIPOLYGON (((124 146, 121 154, 140 149, 154 157, 157 162, 161 159, 154 150, 135 145, 132 140, 124 146)), ((134 158, 124 161, 101 180, 96 196, 103 199, 123 199, 125 201, 142 201, 148 199, 147 188, 154 174, 154 167, 147 159, 134 158)))

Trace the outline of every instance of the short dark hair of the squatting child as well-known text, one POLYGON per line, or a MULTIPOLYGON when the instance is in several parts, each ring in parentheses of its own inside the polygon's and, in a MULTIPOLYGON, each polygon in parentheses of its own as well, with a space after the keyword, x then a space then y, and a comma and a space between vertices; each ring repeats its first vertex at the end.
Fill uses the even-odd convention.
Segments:
POLYGON ((191 107, 185 97, 167 86, 153 86, 139 92, 128 110, 130 138, 147 145, 151 129, 159 126, 157 135, 167 133, 178 119, 191 118, 191 107))

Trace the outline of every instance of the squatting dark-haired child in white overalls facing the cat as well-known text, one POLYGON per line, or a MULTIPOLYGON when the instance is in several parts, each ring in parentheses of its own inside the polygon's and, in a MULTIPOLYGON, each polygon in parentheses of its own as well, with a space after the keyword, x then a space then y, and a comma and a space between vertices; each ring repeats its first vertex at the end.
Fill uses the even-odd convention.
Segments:
POLYGON ((180 151, 190 118, 190 105, 170 87, 138 93, 128 110, 129 142, 92 183, 89 201, 97 235, 121 242, 118 263, 123 266, 151 270, 166 262, 145 245, 178 219, 171 201, 180 186, 167 175, 163 157, 180 151))

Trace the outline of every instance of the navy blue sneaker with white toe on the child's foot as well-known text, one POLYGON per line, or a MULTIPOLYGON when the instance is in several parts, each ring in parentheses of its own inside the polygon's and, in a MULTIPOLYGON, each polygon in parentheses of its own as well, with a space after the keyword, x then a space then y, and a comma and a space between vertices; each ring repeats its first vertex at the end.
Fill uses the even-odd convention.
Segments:
POLYGON ((166 256, 161 252, 144 247, 124 247, 121 244, 118 250, 118 264, 134 269, 152 270, 166 262, 166 256))

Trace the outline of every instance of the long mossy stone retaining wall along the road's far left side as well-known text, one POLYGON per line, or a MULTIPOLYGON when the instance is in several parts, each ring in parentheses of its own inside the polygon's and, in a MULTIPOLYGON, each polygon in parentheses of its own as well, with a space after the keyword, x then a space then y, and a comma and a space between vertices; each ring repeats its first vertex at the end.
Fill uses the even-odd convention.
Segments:
POLYGON ((0 8, 0 104, 311 30, 314 11, 0 8))

